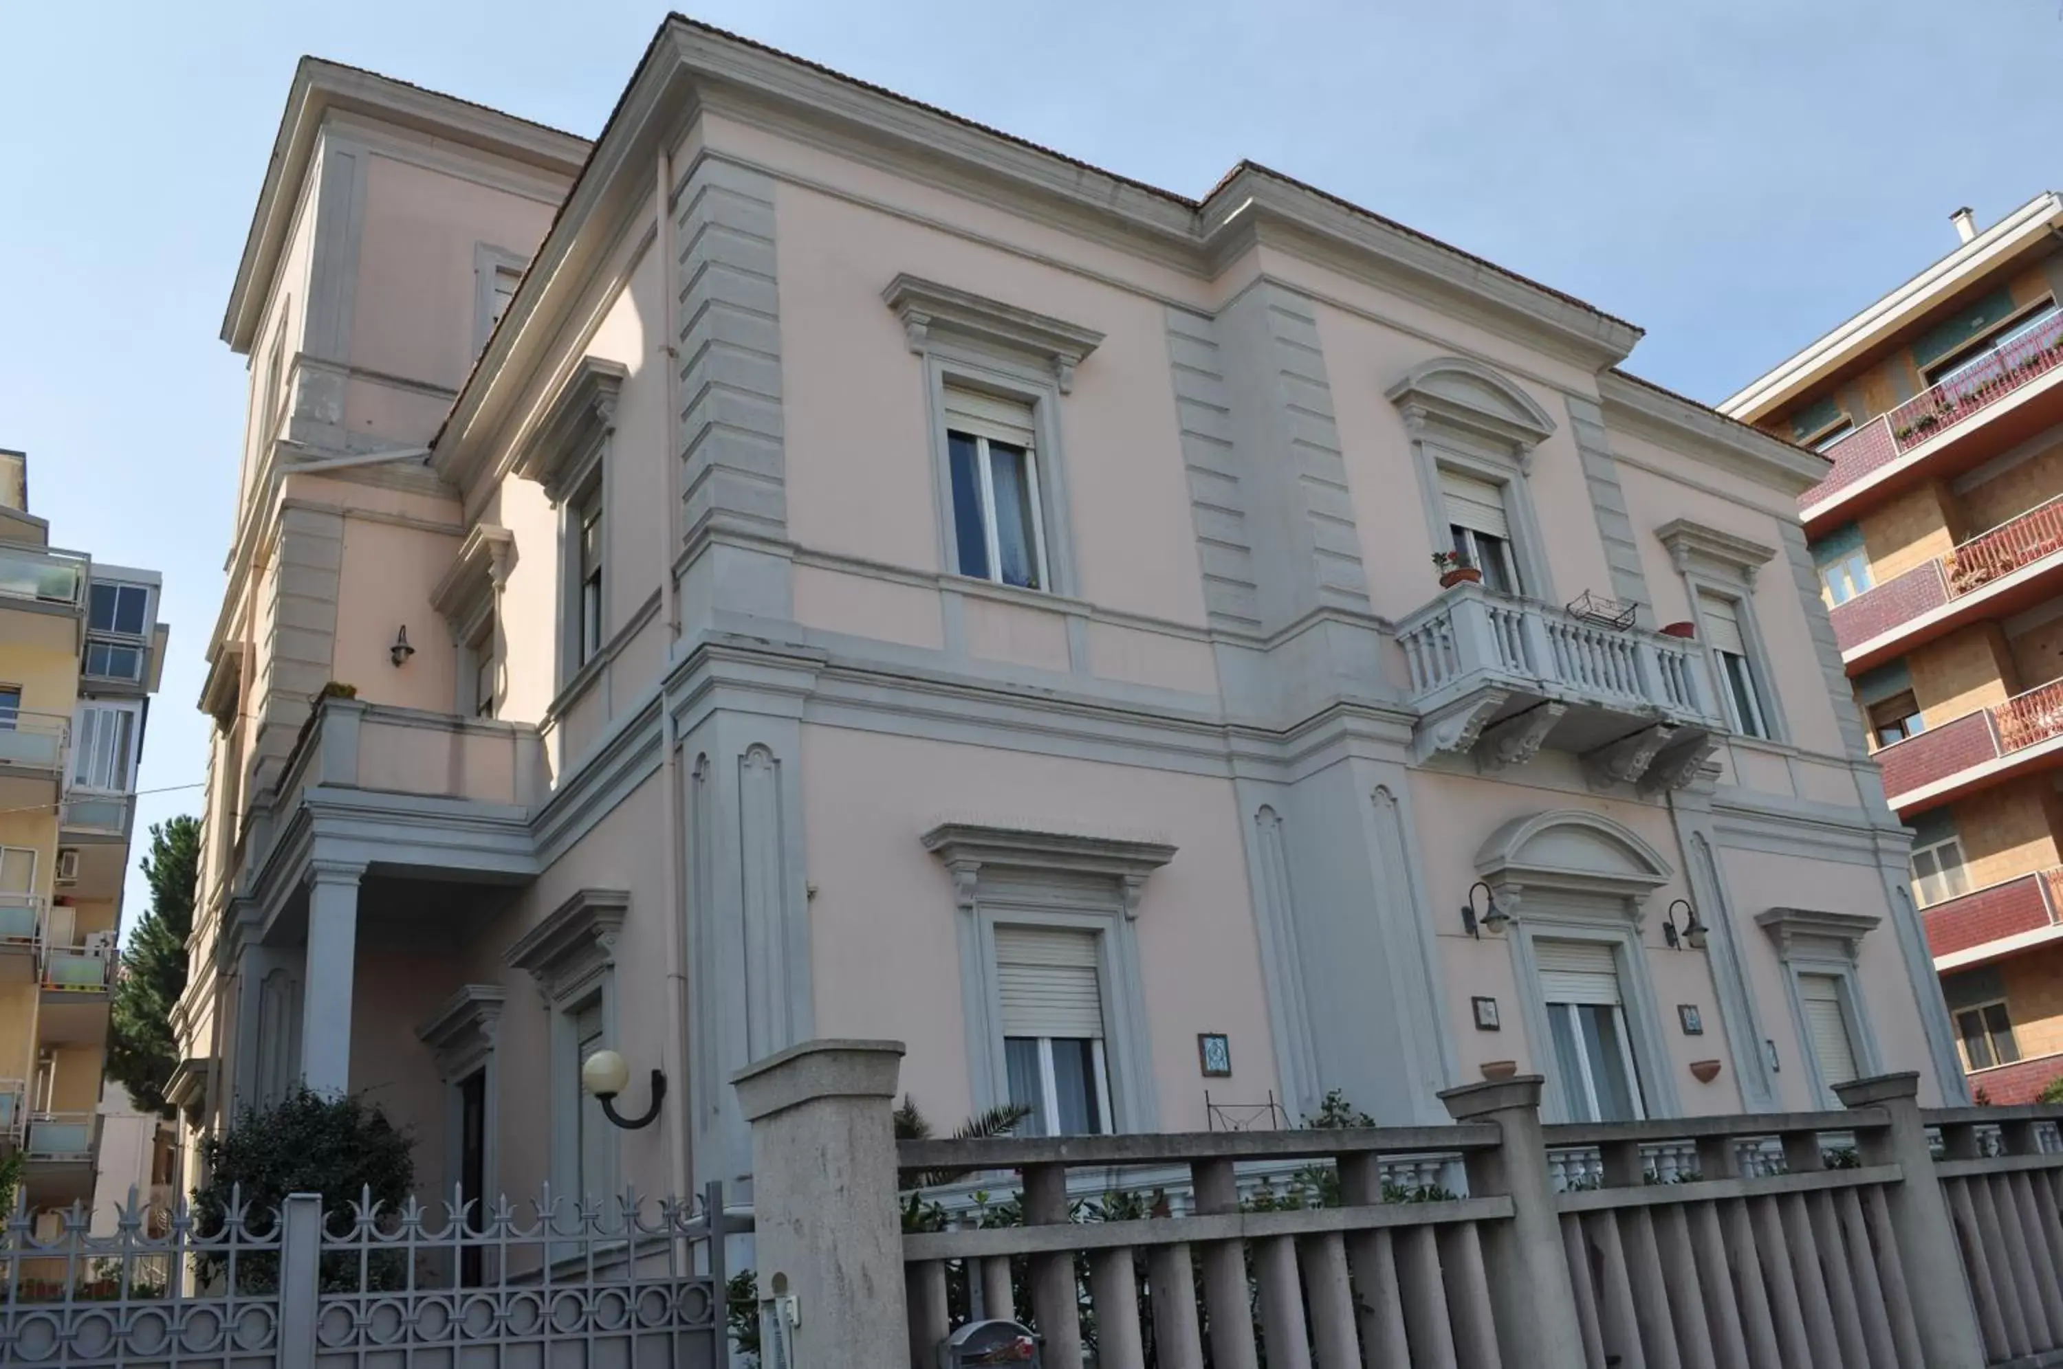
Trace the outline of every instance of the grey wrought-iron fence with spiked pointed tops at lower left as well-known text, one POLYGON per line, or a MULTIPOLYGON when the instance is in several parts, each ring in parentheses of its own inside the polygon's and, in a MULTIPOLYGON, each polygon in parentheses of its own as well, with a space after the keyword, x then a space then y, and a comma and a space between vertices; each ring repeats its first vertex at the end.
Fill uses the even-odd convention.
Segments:
POLYGON ((0 1233, 0 1363, 76 1369, 718 1369, 728 1365, 722 1188, 701 1204, 314 1194, 202 1221, 130 1202, 0 1233))

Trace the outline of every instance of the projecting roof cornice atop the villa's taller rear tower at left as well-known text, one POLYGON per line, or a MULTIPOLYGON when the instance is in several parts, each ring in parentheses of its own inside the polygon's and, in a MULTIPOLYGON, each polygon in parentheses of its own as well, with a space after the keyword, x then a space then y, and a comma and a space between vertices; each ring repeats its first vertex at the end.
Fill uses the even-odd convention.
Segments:
POLYGON ((243 256, 237 260, 237 274, 229 287, 229 305, 223 311, 221 338, 231 350, 248 353, 252 348, 268 297, 264 287, 285 249, 316 136, 330 109, 349 109, 400 128, 450 138, 559 175, 574 175, 588 151, 584 138, 543 124, 373 72, 301 58, 287 91, 287 109, 272 138, 272 157, 258 188, 252 225, 243 235, 243 256))

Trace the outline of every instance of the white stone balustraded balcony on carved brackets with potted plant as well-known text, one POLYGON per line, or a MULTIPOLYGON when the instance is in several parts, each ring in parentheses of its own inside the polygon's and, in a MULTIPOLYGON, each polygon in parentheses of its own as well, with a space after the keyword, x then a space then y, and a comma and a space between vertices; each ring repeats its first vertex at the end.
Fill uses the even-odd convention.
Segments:
POLYGON ((1696 643, 1483 586, 1444 590, 1397 643, 1419 761, 1471 753, 1496 771, 1551 746, 1582 757, 1593 786, 1652 794, 1688 783, 1727 730, 1696 643))

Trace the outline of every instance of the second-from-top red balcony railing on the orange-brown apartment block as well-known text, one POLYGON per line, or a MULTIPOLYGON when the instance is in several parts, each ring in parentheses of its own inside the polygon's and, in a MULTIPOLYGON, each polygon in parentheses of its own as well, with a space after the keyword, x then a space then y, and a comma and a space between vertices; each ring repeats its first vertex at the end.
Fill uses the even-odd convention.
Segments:
MULTIPOLYGON (((1958 542, 1945 557, 1925 561, 1857 594, 1846 604, 1836 604, 1828 614, 1834 621, 1834 639, 1844 654, 1875 643, 1871 660, 1894 649, 1910 649, 1912 637, 1888 639, 1888 635, 1908 625, 1917 629, 1919 619, 1987 586, 2003 588, 2003 581, 2020 571, 2030 571, 2022 581, 2032 581, 2034 567, 2042 571, 2063 567, 2063 557, 2057 553, 2063 553, 2063 495, 1958 542)), ((1931 621, 1931 629, 1947 631, 1968 616, 1972 614, 1941 614, 1931 621)))

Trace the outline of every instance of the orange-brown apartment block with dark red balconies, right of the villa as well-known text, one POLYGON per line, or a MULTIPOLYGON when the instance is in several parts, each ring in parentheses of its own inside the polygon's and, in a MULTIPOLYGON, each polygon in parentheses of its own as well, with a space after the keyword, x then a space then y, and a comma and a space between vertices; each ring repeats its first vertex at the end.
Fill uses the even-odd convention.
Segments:
POLYGON ((1993 1103, 2063 1078, 2063 196, 2044 194, 1721 410, 1818 447, 1799 497, 1912 893, 1993 1103))

